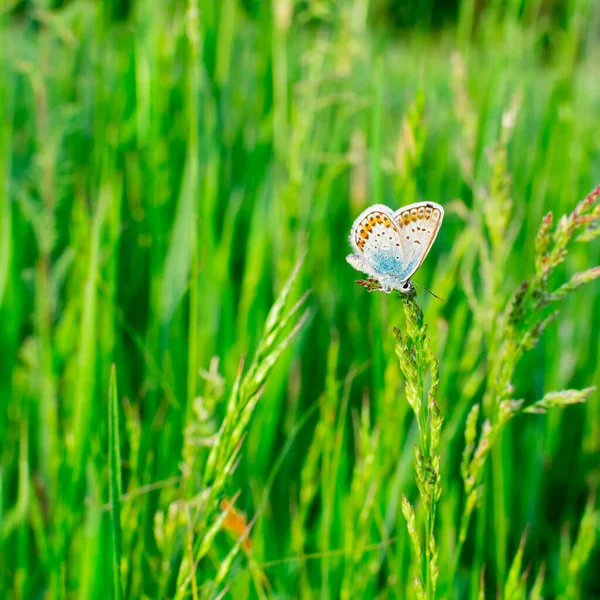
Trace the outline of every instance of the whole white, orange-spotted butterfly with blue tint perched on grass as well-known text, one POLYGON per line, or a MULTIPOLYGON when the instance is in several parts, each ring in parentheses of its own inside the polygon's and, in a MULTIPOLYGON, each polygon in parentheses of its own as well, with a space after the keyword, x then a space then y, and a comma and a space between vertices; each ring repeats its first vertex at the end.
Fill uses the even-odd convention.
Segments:
POLYGON ((421 266, 437 237, 444 209, 435 202, 416 202, 394 212, 383 204, 363 211, 352 224, 346 260, 376 279, 381 290, 412 292, 410 278, 421 266))

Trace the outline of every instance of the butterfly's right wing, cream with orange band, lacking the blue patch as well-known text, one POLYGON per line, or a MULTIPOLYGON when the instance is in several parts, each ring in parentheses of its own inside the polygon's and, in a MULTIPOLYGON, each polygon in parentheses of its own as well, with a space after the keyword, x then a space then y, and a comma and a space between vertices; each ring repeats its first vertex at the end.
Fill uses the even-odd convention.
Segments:
POLYGON ((394 213, 400 232, 402 255, 411 277, 421 266, 437 237, 444 218, 444 209, 435 202, 415 202, 394 213))

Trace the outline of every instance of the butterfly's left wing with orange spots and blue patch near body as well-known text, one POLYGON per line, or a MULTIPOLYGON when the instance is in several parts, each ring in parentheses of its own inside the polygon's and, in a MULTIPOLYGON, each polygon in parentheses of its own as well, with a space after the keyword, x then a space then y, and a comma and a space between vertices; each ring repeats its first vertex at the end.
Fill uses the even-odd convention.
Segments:
POLYGON ((347 260, 355 268, 361 264, 358 270, 363 273, 374 277, 394 275, 401 280, 410 276, 401 231, 387 206, 374 204, 363 211, 352 225, 350 243, 357 258, 347 260))

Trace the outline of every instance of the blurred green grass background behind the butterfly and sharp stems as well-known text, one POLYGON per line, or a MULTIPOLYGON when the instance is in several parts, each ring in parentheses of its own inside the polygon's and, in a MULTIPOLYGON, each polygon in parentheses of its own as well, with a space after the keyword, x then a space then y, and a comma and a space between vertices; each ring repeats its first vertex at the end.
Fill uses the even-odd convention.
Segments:
MULTIPOLYGON (((542 217, 600 183, 597 2, 5 0, 0 36, 0 597, 112 597, 113 363, 123 597, 414 597, 402 306, 355 285, 345 255, 364 208, 418 200, 446 209, 415 276, 446 299, 418 296, 445 418, 438 596, 539 597, 541 572, 543 597, 600 597, 573 552, 597 392, 509 425, 449 579, 486 327, 531 276, 542 217), (493 275, 490 207, 508 220, 493 275), (305 252, 291 300, 311 290, 308 320, 209 494, 240 511, 218 532, 214 434, 305 252), (507 592, 525 530, 528 576, 507 592)), ((557 281, 599 259, 574 245, 557 281)), ((600 382, 599 291, 565 301, 516 398, 600 382)))

